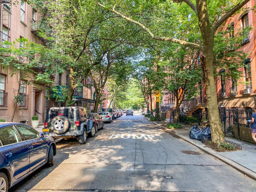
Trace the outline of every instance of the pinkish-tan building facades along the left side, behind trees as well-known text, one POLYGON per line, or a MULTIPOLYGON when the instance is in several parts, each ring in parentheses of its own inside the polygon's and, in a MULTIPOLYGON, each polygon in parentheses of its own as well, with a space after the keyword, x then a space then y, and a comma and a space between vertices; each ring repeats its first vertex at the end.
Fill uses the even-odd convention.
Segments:
MULTIPOLYGON (((34 10, 26 1, 19 1, 19 4, 11 5, 8 0, 0 0, 0 44, 2 42, 13 42, 20 37, 27 38, 30 42, 45 45, 45 39, 39 37, 38 30, 40 20, 44 15, 34 10)), ((52 32, 53 34, 53 32, 52 32)), ((22 46, 21 44, 19 46, 22 46)), ((44 71, 43 66, 34 67, 30 76, 35 76, 44 71)), ((3 68, 0 66, 0 119, 11 121, 15 109, 14 98, 18 91, 18 82, 15 76, 11 76, 12 66, 3 68)), ((68 86, 68 71, 63 74, 53 74, 54 86, 61 90, 68 86)), ((22 81, 19 96, 22 98, 17 105, 14 115, 14 122, 21 122, 31 125, 31 117, 38 116, 41 123, 44 122, 46 109, 52 106, 64 106, 64 103, 56 102, 56 97, 50 90, 50 86, 38 82, 26 83, 22 81)), ((62 94, 62 93, 60 93, 62 94)), ((73 95, 74 105, 84 106, 88 110, 94 107, 95 90, 91 86, 90 78, 85 79, 73 95)))

